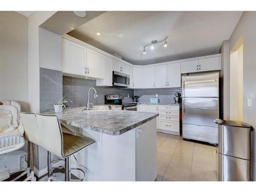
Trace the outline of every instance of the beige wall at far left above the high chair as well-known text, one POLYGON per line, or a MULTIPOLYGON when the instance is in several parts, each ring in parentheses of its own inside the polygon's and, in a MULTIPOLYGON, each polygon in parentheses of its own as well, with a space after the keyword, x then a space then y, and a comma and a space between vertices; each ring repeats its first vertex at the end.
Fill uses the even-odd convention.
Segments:
POLYGON ((0 99, 13 99, 29 112, 28 18, 0 11, 0 99))

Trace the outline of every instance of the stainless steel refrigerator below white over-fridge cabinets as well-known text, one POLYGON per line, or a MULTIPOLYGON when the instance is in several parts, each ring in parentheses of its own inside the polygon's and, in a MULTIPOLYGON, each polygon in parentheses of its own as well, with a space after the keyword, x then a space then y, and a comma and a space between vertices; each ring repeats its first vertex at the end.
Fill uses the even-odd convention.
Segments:
POLYGON ((182 137, 218 143, 219 72, 182 76, 182 137))

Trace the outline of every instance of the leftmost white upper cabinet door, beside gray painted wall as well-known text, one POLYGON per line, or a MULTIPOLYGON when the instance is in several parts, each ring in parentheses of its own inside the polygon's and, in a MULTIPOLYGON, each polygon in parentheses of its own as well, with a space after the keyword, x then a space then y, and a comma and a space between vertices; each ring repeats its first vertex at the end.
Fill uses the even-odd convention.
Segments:
POLYGON ((63 73, 86 76, 86 48, 63 39, 63 73))

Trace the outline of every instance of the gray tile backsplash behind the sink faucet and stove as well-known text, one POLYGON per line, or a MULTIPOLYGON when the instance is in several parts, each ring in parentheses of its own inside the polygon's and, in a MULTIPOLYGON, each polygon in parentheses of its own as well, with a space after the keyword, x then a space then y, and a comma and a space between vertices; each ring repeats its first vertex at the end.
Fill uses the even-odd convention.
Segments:
POLYGON ((86 106, 88 90, 93 87, 98 93, 94 98, 93 91, 90 92, 90 102, 94 104, 104 104, 104 96, 108 94, 119 94, 127 97, 130 94, 133 97, 133 90, 120 89, 112 87, 97 87, 95 80, 63 76, 63 96, 73 101, 71 106, 86 106))

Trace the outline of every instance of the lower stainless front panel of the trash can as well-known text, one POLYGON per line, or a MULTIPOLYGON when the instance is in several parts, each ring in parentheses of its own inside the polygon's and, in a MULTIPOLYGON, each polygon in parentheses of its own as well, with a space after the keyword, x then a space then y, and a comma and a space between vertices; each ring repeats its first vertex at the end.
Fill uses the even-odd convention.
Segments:
POLYGON ((250 181, 250 160, 219 153, 219 181, 250 181))

